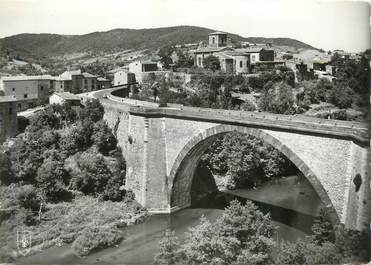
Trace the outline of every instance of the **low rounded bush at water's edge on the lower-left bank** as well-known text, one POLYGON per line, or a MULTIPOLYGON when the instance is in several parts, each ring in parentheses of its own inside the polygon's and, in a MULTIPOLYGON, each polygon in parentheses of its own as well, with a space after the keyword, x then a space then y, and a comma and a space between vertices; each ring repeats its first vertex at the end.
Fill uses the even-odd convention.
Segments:
POLYGON ((123 239, 122 232, 115 227, 86 227, 72 243, 72 250, 77 256, 86 256, 93 250, 113 246, 123 239))

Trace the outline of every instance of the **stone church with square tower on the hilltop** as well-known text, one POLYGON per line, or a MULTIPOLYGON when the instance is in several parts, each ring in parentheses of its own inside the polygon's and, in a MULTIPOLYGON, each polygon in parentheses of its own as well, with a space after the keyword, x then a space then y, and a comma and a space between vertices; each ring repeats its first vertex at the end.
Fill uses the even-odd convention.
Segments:
MULTIPOLYGON (((209 34, 207 47, 199 47, 194 51, 194 65, 204 67, 204 59, 210 55, 220 61, 220 68, 227 73, 247 74, 257 63, 274 62, 274 51, 263 47, 246 47, 235 49, 228 46, 228 36, 224 32, 209 34)), ((279 62, 277 62, 279 63, 279 62)))

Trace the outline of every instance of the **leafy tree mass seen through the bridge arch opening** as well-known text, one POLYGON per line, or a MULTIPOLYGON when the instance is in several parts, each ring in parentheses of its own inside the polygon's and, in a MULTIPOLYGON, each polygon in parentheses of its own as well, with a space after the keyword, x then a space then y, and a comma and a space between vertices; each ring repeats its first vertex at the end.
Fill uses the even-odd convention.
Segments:
POLYGON ((214 141, 201 162, 213 173, 226 176, 229 189, 257 186, 295 168, 272 146, 239 132, 227 133, 214 141))

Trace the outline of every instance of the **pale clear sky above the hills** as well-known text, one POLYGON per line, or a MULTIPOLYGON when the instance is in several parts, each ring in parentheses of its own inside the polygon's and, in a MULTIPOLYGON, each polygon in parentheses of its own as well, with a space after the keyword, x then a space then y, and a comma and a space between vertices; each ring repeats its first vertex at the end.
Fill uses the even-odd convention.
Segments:
MULTIPOLYGON (((371 4, 371 0, 367 0, 371 4)), ((193 25, 290 37, 325 50, 371 47, 370 6, 336 0, 0 0, 0 38, 193 25)))

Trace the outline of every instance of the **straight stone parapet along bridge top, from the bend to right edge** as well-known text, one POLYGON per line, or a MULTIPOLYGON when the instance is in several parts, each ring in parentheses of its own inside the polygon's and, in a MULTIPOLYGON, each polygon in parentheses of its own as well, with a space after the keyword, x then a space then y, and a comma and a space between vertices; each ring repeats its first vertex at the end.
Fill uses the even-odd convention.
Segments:
POLYGON ((326 120, 304 115, 280 115, 264 112, 246 112, 192 107, 130 107, 132 115, 171 117, 220 124, 249 125, 250 127, 279 131, 320 134, 347 138, 363 145, 370 144, 370 130, 365 123, 326 120))

